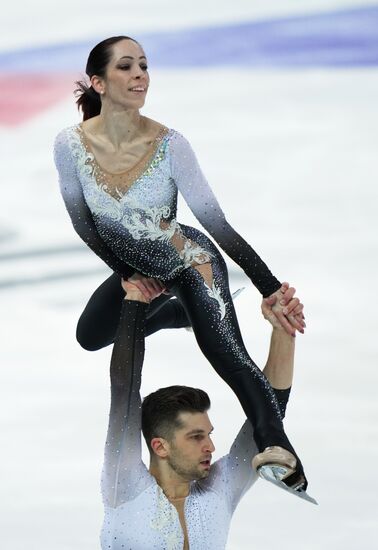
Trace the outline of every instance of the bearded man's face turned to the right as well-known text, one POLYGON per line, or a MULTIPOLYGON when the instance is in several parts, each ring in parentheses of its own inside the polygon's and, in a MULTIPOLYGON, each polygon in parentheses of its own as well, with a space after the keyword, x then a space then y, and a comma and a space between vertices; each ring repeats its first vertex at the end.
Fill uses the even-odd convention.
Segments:
POLYGON ((207 413, 182 412, 178 418, 182 427, 168 444, 167 462, 185 481, 203 479, 209 475, 211 454, 215 450, 209 417, 207 413))

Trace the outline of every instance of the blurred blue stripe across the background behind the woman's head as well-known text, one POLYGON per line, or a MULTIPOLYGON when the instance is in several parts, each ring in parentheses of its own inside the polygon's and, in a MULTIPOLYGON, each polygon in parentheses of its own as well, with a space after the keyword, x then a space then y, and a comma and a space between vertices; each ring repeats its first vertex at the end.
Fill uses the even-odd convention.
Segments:
MULTIPOLYGON (((4 52, 0 71, 83 72, 89 50, 102 38, 4 52)), ((152 67, 377 66, 378 5, 135 38, 152 67)))

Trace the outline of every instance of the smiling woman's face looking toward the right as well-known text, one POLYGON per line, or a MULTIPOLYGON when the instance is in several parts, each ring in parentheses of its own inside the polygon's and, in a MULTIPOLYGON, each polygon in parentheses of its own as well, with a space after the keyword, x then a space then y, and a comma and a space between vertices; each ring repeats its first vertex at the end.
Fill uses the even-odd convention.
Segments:
POLYGON ((140 109, 150 83, 145 53, 132 40, 120 40, 112 50, 105 78, 98 80, 97 91, 103 91, 103 101, 115 108, 140 109))

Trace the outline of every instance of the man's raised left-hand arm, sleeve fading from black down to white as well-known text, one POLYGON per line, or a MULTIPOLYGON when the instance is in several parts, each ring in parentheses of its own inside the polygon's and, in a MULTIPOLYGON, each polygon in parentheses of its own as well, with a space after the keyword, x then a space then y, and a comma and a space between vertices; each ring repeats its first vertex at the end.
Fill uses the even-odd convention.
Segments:
POLYGON ((110 364, 111 407, 102 476, 104 504, 132 498, 143 475, 140 385, 147 304, 124 300, 110 364))

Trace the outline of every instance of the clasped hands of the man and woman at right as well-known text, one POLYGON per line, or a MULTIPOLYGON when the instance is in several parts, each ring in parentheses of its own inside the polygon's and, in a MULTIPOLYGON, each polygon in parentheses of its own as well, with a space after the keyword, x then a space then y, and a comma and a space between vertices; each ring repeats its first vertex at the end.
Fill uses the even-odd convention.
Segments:
POLYGON ((294 298, 295 288, 289 283, 282 283, 279 290, 264 298, 262 313, 275 328, 283 328, 291 336, 295 331, 304 333, 306 323, 303 315, 303 304, 298 298, 294 298))

